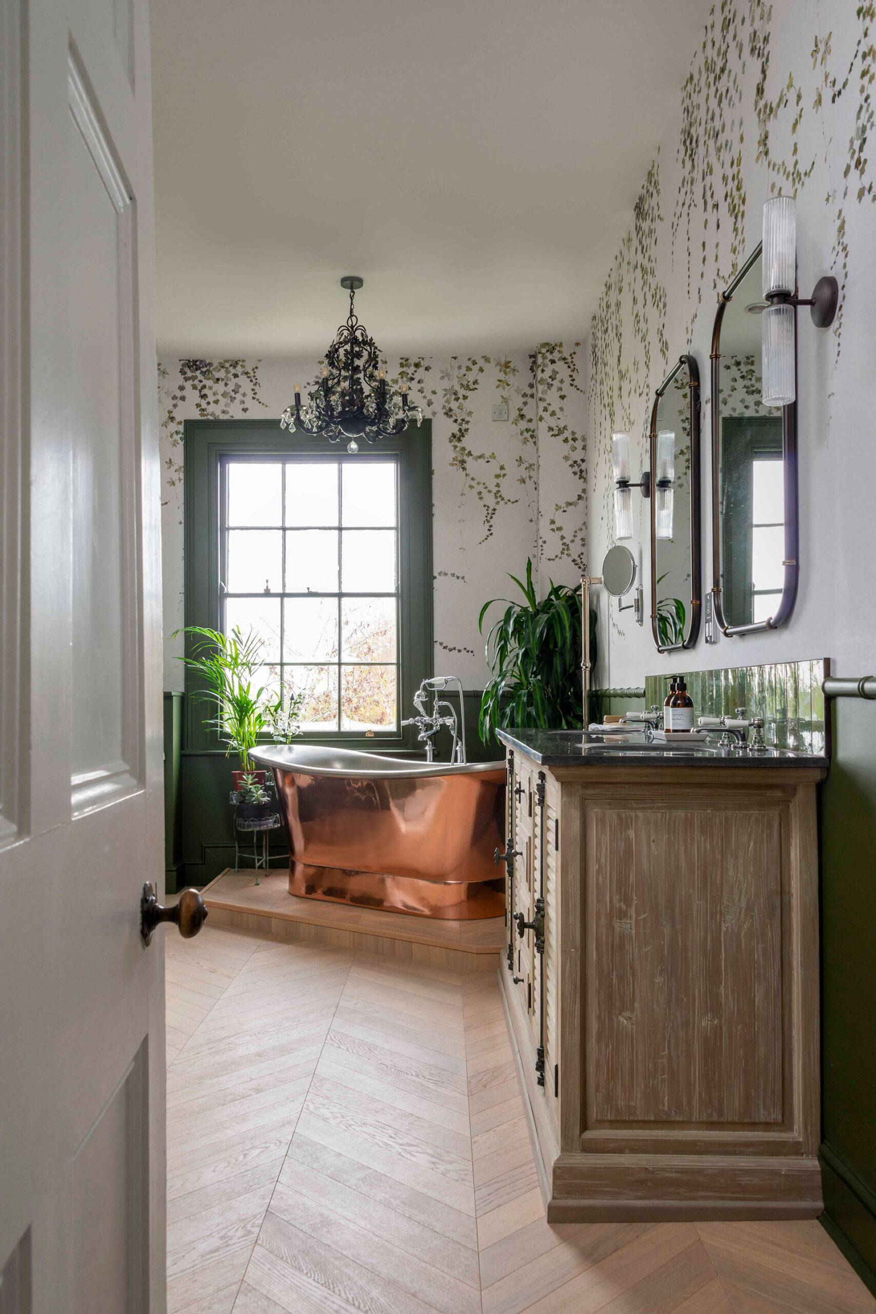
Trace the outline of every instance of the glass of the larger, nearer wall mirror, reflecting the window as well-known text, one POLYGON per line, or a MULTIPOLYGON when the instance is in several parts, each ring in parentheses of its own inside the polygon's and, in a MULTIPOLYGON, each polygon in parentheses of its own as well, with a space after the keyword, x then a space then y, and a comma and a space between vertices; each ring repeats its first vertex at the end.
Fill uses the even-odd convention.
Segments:
POLYGON ((775 616, 784 585, 783 417, 762 401, 760 288, 758 256, 721 323, 720 583, 732 627, 775 616))

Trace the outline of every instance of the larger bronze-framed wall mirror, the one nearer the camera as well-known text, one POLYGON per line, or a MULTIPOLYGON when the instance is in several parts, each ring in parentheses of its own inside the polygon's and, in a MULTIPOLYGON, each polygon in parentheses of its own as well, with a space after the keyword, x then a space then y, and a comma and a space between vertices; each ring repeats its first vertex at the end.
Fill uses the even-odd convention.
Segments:
POLYGON ((760 246, 712 334, 712 606, 725 635, 784 624, 797 597, 796 407, 762 399, 760 246))

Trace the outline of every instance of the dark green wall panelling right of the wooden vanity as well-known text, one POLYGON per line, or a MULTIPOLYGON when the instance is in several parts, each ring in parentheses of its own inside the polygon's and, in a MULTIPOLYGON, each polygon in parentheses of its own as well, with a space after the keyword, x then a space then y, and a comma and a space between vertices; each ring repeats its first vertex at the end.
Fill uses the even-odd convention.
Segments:
POLYGON ((876 704, 833 702, 821 788, 822 1222, 876 1293, 876 704))

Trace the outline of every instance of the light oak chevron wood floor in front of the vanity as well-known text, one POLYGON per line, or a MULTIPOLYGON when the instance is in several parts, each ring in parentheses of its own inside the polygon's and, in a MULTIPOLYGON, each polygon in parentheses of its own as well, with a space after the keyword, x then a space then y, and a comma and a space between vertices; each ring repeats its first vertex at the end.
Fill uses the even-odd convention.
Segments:
POLYGON ((169 1314, 863 1314, 817 1222, 549 1227, 493 976, 167 936, 169 1314))

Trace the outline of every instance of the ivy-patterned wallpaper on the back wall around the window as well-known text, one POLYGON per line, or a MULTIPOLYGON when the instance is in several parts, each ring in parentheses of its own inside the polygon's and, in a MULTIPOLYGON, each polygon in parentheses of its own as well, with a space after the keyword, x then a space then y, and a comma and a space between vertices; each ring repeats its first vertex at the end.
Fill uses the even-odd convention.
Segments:
MULTIPOLYGON (((432 422, 435 669, 466 687, 487 678, 478 612, 507 597, 507 572, 573 582, 586 555, 586 444, 580 343, 541 343, 531 355, 399 357, 393 386, 407 382, 432 422), (504 402, 508 419, 493 420, 504 402)), ((183 423, 277 418, 296 382, 319 361, 169 360, 159 363, 163 465, 164 687, 181 689, 184 623, 183 423)))

